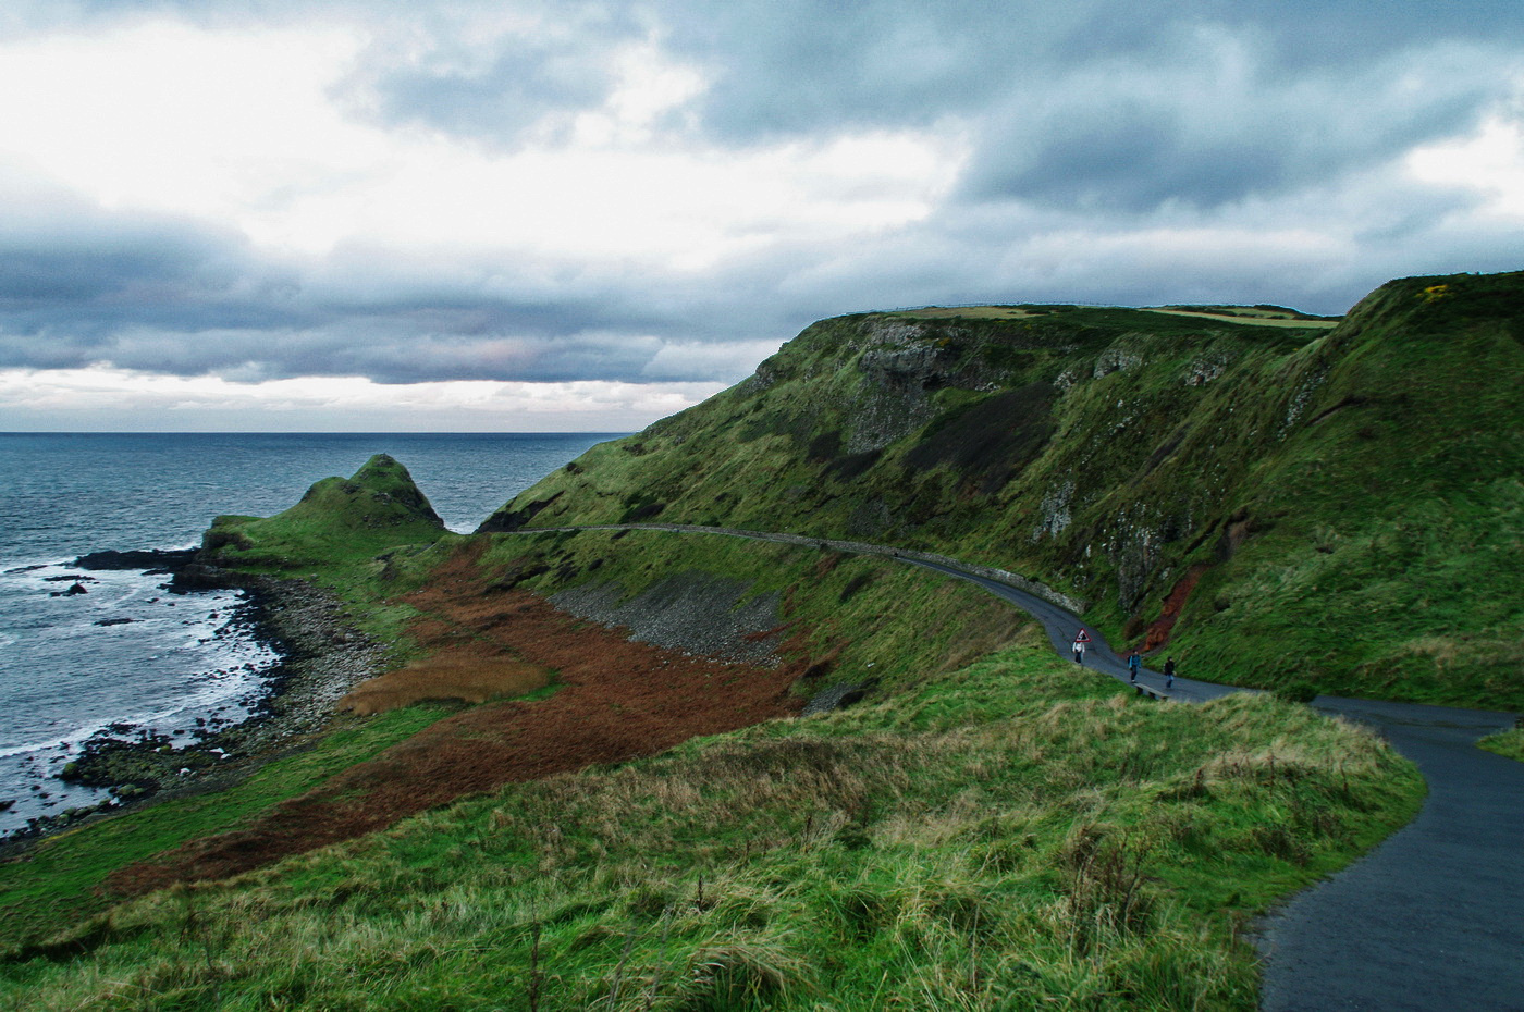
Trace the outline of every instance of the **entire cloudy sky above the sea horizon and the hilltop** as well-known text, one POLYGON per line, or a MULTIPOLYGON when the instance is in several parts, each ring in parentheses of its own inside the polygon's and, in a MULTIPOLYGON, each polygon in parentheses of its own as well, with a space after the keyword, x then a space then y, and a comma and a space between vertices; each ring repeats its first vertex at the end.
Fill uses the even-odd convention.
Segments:
POLYGON ((1518 0, 0 6, 8 431, 629 431, 843 312, 1519 268, 1518 0))

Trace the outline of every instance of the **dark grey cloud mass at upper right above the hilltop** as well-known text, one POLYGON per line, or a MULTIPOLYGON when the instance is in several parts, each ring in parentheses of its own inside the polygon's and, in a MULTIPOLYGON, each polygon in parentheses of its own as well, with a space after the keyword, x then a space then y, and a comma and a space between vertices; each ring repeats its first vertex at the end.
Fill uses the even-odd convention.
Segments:
POLYGON ((1018 98, 988 119, 965 195, 1131 212, 1166 201, 1210 207, 1466 133, 1500 91, 1495 64, 1471 52, 1286 82, 1274 67, 1234 66, 1245 53, 1213 41, 1227 52, 1091 67, 1018 98))

